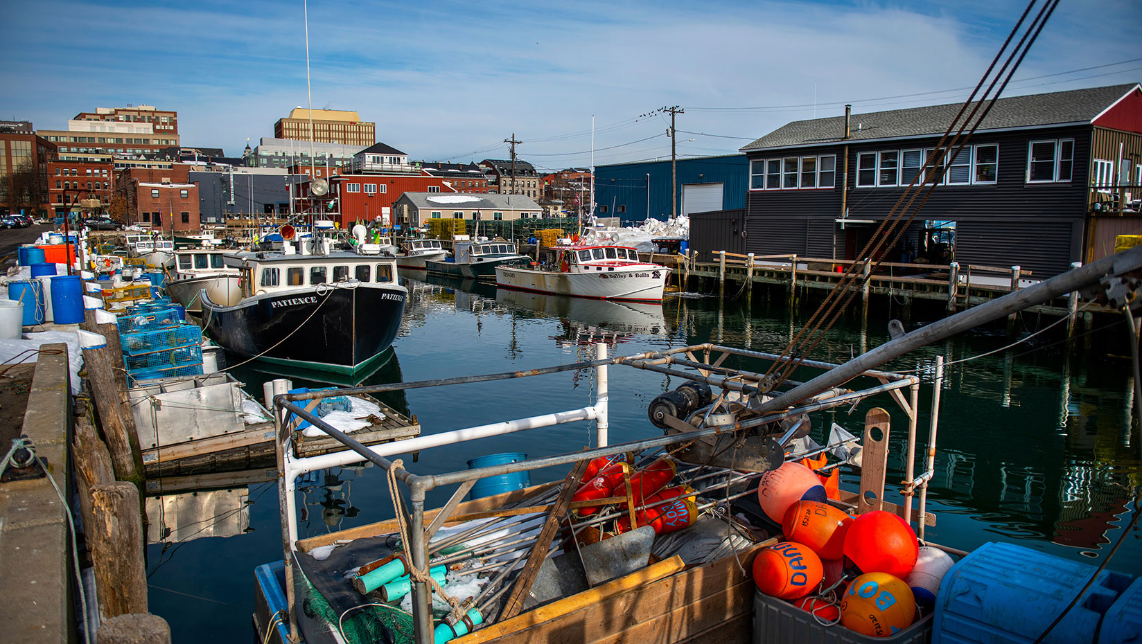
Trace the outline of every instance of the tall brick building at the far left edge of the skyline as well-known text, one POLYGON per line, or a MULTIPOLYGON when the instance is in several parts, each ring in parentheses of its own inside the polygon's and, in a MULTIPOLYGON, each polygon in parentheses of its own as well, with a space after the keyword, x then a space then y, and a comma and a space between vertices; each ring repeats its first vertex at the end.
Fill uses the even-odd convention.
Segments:
POLYGON ((56 146, 42 137, 0 132, 0 212, 46 212, 55 158, 56 146))

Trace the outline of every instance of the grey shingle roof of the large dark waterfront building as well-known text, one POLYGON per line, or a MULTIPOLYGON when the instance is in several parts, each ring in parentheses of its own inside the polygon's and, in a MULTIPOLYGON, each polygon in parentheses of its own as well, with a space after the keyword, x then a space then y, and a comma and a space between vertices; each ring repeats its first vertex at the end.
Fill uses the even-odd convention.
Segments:
MULTIPOLYGON (((1134 84, 1115 84, 1049 94, 1000 98, 976 131, 1061 123, 1091 122, 1103 110, 1125 96, 1134 84)), ((747 144, 741 150, 831 144, 841 140, 872 140, 918 136, 939 136, 947 131, 962 103, 853 114, 851 131, 844 138, 845 118, 829 116, 793 121, 747 144)))

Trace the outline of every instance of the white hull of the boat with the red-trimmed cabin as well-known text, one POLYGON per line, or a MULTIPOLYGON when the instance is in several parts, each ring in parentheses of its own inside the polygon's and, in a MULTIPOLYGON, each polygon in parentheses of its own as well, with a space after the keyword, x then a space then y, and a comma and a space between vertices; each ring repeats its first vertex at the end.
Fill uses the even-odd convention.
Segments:
POLYGON ((496 269, 496 285, 592 299, 660 303, 669 275, 669 268, 653 265, 581 273, 502 266, 496 269))

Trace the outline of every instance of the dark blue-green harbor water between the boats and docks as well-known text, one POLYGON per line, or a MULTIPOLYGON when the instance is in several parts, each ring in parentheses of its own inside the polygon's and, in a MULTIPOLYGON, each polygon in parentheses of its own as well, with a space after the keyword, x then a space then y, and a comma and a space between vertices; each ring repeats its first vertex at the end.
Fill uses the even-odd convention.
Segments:
MULTIPOLYGON (((791 314, 782 298, 751 305, 716 296, 685 293, 662 306, 617 304, 497 291, 472 282, 444 282, 416 274, 405 277, 409 301, 392 355, 368 384, 517 371, 594 357, 595 344, 611 355, 713 341, 781 353, 811 309, 791 314), (417 279, 419 276, 419 279, 417 279)), ((936 524, 927 539, 960 549, 1010 541, 1073 561, 1099 564, 1123 537, 1133 510, 1132 486, 1142 483, 1137 419, 1124 321, 1104 319, 1080 328, 1072 349, 1057 325, 1028 341, 986 355, 1053 320, 1024 315, 1014 338, 1002 329, 976 330, 912 352, 885 367, 918 372, 920 436, 927 435, 932 372, 936 355, 949 362, 935 474, 928 509, 936 524)), ((908 327, 919 324, 914 316, 908 327)), ((870 314, 841 320, 812 357, 843 362, 883 344, 887 317, 870 314)), ((227 356, 231 363, 240 362, 227 356)), ((260 397, 262 383, 278 377, 295 387, 329 386, 317 373, 254 362, 233 373, 260 397)), ((341 383, 353 384, 353 383, 341 383)), ((610 377, 610 441, 660 435, 646 405, 677 386, 659 373, 624 367, 610 377)), ((589 371, 380 395, 385 403, 416 414, 423 434, 494 420, 522 418, 589 404, 589 371)), ((864 413, 882 406, 892 414, 890 488, 904 472, 907 418, 887 396, 814 417, 822 440, 831 422, 860 433, 864 413)), ((492 437, 456 448, 402 454, 417 474, 467 468, 478 456, 525 452, 534 458, 595 443, 587 424, 563 425, 492 437)), ((923 438, 920 441, 923 445, 923 438)), ((918 450, 917 472, 923 464, 918 450)), ((562 478, 565 470, 531 473, 531 483, 562 478)), ((186 482, 163 491, 148 482, 152 520, 147 547, 151 611, 170 622, 175 642, 235 641, 252 634, 254 569, 282 558, 273 466, 209 475, 209 489, 186 482), (214 477, 214 478, 210 478, 214 477), (227 483, 227 481, 231 481, 227 483), (156 529, 155 520, 175 525, 156 529)), ((847 483, 856 476, 845 474, 847 483)), ((391 518, 384 473, 375 467, 333 468, 299 485, 299 534, 311 537, 391 518)), ((449 490, 434 490, 428 506, 443 505, 449 490)), ((900 502, 899 494, 887 500, 900 502)), ((1142 540, 1135 529, 1108 566, 1142 574, 1142 540)))

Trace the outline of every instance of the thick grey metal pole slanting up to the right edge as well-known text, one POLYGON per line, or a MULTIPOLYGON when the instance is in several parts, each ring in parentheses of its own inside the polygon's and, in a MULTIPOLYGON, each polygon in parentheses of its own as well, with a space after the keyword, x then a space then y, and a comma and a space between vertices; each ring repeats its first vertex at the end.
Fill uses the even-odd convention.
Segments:
MULTIPOLYGON (((1120 282, 1119 288, 1121 290, 1118 291, 1119 295, 1112 296, 1112 299, 1121 299, 1121 301, 1117 301, 1117 306, 1137 306, 1140 304, 1137 293, 1132 285, 1125 283, 1124 276, 1140 268, 1142 268, 1142 247, 1135 247, 1111 255, 1110 257, 1103 257, 1080 268, 1068 271, 1062 275, 1055 275, 1032 287, 1020 289, 987 304, 963 311, 950 317, 944 317, 939 322, 920 327, 910 333, 906 333, 868 353, 861 354, 803 385, 797 385, 789 391, 778 394, 773 399, 762 403, 756 411, 757 413, 766 413, 797 404, 826 389, 843 385, 869 369, 875 369, 915 348, 949 338, 980 324, 994 322, 1029 306, 1051 301, 1056 297, 1073 291, 1088 289, 1099 284, 1100 281, 1120 282)), ((1104 287, 1113 288, 1113 284, 1104 284, 1104 287)), ((1109 291, 1111 288, 1107 290, 1109 291)))

